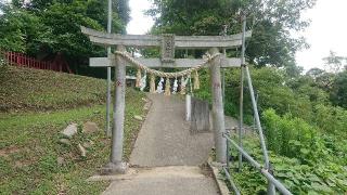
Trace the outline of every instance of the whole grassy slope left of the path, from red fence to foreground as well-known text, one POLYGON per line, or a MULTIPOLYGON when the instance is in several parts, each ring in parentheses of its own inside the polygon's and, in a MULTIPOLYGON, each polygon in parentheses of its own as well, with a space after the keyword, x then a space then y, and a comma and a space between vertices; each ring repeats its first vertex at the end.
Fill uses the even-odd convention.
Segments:
MULTIPOLYGON (((20 77, 10 78, 11 82, 7 81, 7 86, 1 84, 2 107, 7 107, 8 112, 23 110, 23 108, 31 110, 0 113, 0 194, 99 194, 102 192, 107 182, 89 183, 86 179, 108 160, 110 139, 102 131, 105 106, 95 104, 103 102, 98 100, 98 95, 104 94, 105 82, 41 70, 11 68, 9 72, 18 74, 21 79, 20 77), (40 91, 25 89, 30 86, 30 82, 37 80, 41 83, 37 87, 40 91), (60 84, 55 86, 56 83, 60 84), (18 88, 16 89, 14 84, 18 88), (10 100, 11 95, 2 94, 7 91, 7 94, 15 95, 12 91, 20 92, 20 89, 24 92, 18 102, 10 100), (29 100, 41 100, 40 93, 51 94, 51 98, 28 104, 29 100), (60 101, 53 99, 56 96, 61 98, 60 101), (3 106, 3 101, 9 104, 3 106), (77 107, 76 105, 88 106, 77 107), (69 106, 76 108, 67 109, 69 106), (51 110, 37 112, 41 108, 51 110), (93 134, 79 132, 74 136, 70 145, 59 144, 62 138, 60 131, 73 121, 78 125, 94 121, 101 130, 93 134), (77 144, 87 140, 93 141, 94 144, 88 148, 87 157, 82 158, 77 144), (59 157, 64 158, 63 165, 57 164, 59 157)), ((131 143, 141 125, 133 119, 133 115, 144 115, 143 96, 137 91, 127 91, 125 158, 130 154, 131 143)))

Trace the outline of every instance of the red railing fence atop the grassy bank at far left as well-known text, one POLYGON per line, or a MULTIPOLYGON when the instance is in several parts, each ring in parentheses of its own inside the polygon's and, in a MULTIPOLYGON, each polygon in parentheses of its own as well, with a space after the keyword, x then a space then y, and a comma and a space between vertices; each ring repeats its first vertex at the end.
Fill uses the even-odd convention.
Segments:
POLYGON ((34 57, 26 56, 23 53, 1 52, 3 58, 13 66, 29 67, 36 69, 59 70, 52 62, 38 61, 34 57))

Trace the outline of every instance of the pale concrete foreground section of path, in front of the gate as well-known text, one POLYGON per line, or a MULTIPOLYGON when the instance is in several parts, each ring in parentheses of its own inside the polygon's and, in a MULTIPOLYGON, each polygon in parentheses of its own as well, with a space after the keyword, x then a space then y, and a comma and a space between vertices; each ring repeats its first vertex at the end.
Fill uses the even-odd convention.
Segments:
POLYGON ((138 170, 111 183, 104 195, 216 195, 215 180, 198 167, 159 167, 138 170))

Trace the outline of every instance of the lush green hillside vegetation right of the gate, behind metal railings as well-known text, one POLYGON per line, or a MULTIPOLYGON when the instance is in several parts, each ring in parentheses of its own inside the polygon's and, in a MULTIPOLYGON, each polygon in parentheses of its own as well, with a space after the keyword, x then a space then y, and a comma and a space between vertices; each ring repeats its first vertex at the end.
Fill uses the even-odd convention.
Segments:
MULTIPOLYGON (((331 91, 319 79, 324 75, 314 80, 310 75, 293 78, 274 67, 252 66, 250 72, 274 176, 294 194, 346 193, 347 109, 333 105, 331 91)), ((347 69, 336 75, 346 73, 347 69)), ((195 95, 210 101, 209 75, 202 72, 201 80, 202 88, 195 95)), ((335 82, 333 79, 332 83, 335 82)), ((240 70, 226 70, 226 113, 239 117, 240 70)), ((252 125, 248 91, 245 88, 244 121, 252 125)), ((262 162, 257 131, 243 140, 244 148, 262 162)), ((234 148, 231 155, 237 159, 234 148)), ((250 164, 244 162, 243 171, 235 172, 237 160, 233 162, 232 174, 243 194, 266 192, 265 178, 250 164)))

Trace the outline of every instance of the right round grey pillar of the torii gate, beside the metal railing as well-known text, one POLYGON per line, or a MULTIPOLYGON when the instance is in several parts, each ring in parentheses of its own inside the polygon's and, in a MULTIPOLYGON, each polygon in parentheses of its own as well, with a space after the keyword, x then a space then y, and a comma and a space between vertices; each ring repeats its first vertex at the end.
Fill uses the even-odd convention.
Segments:
MULTIPOLYGON (((210 55, 214 55, 218 52, 219 51, 217 48, 211 48, 209 50, 210 55)), ((218 162, 224 164, 227 161, 227 143, 226 139, 222 136, 223 132, 226 131, 226 123, 220 81, 220 56, 214 58, 210 64, 210 81, 213 92, 213 127, 216 145, 216 160, 218 162)))

